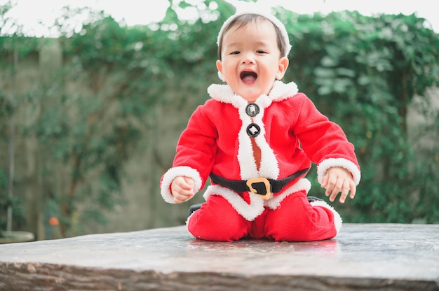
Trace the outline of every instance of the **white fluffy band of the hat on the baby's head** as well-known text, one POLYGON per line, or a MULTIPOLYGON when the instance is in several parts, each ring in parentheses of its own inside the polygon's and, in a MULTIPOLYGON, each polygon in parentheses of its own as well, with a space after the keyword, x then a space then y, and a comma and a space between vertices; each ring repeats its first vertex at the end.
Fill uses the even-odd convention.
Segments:
MULTIPOLYGON (((218 38, 217 38, 217 45, 219 46, 219 43, 222 42, 222 38, 224 35, 224 30, 226 29, 226 27, 229 26, 230 22, 234 21, 236 19, 236 17, 239 17, 241 15, 246 15, 246 14, 256 14, 256 15, 260 15, 262 17, 264 17, 266 20, 269 20, 271 23, 273 23, 274 26, 276 26, 279 31, 281 31, 281 35, 282 35, 282 42, 285 45, 285 55, 283 55, 283 57, 287 57, 288 53, 290 53, 291 50, 291 45, 290 45, 290 38, 288 38, 288 32, 287 29, 285 29, 285 25, 283 25, 283 23, 281 22, 281 20, 278 20, 278 18, 274 15, 271 15, 270 13, 266 13, 262 10, 257 10, 254 8, 246 8, 243 11, 237 11, 234 15, 231 15, 231 17, 229 17, 223 24, 221 29, 219 29, 219 34, 218 34, 218 38)), ((220 79, 222 78, 222 74, 218 72, 218 76, 220 79)))

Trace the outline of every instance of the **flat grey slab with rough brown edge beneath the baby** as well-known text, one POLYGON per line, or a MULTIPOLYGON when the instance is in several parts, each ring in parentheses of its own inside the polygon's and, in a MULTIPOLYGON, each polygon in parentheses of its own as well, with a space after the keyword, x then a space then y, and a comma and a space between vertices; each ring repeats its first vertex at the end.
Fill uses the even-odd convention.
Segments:
POLYGON ((186 227, 0 245, 0 290, 439 290, 439 225, 345 224, 306 243, 186 227))

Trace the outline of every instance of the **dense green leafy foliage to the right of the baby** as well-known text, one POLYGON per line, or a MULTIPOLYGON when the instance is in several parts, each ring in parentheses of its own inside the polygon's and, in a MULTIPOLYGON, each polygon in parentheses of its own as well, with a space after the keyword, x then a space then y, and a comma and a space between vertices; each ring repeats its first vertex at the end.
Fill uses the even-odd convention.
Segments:
MULTIPOLYGON (((438 145, 421 158, 407 136, 407 106, 415 95, 426 101, 426 89, 439 85, 438 35, 415 15, 281 16, 292 34, 287 78, 344 128, 357 149, 357 197, 337 206, 345 220, 438 222, 438 209, 429 206, 439 199, 438 145)), ((437 117, 428 120, 433 124, 419 133, 437 136, 437 117)))

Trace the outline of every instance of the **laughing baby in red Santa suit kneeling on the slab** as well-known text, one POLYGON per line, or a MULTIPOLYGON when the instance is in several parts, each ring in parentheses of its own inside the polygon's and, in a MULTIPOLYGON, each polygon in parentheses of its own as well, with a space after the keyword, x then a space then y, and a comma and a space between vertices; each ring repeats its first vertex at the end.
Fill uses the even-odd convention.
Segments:
POLYGON ((360 181, 353 145, 295 83, 283 83, 290 42, 284 25, 261 12, 236 13, 219 31, 217 69, 161 178, 169 203, 194 197, 210 177, 205 203, 187 219, 197 239, 331 239, 342 218, 307 197, 311 162, 334 201, 353 198, 360 181))

